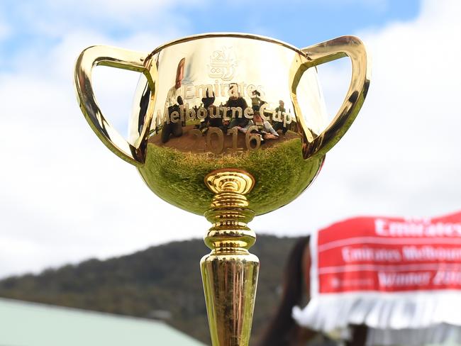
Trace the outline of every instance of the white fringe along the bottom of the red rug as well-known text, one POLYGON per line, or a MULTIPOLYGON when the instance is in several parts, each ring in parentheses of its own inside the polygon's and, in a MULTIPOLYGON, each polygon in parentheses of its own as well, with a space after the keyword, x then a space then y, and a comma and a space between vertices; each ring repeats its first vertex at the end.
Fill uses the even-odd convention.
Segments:
POLYGON ((340 338, 348 338, 349 325, 367 325, 372 328, 370 345, 421 345, 419 338, 440 342, 443 335, 461 341, 461 292, 323 294, 311 298, 304 309, 294 307, 293 318, 301 326, 340 338), (396 342, 401 338, 405 342, 396 342))

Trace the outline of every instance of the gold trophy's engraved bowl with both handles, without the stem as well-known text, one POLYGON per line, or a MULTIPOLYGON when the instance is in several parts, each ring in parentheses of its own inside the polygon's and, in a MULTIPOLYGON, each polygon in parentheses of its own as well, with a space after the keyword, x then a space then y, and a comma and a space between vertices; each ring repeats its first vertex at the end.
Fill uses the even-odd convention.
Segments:
POLYGON ((138 167, 155 194, 202 215, 213 198, 203 184, 206 174, 240 168, 256 179, 248 199, 261 215, 291 202, 311 184, 326 151, 357 115, 368 74, 365 48, 350 36, 299 50, 257 35, 212 33, 167 43, 150 54, 88 48, 77 60, 75 82, 91 128, 116 155, 138 167), (327 127, 315 66, 345 55, 352 60, 352 82, 327 127), (147 77, 135 95, 128 141, 96 104, 95 65, 147 77))

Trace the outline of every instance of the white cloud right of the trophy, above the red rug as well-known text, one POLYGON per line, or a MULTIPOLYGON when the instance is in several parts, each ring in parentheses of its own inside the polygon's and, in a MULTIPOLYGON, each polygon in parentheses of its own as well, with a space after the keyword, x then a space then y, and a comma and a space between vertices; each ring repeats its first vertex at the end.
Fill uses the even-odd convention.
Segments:
MULTIPOLYGON (((424 1, 414 21, 357 34, 372 55, 362 111, 316 182, 253 227, 280 233, 289 220, 302 234, 360 214, 430 217, 461 208, 459 13, 460 1, 424 1)), ((320 69, 326 96, 342 101, 346 83, 338 81, 348 65, 320 69)))

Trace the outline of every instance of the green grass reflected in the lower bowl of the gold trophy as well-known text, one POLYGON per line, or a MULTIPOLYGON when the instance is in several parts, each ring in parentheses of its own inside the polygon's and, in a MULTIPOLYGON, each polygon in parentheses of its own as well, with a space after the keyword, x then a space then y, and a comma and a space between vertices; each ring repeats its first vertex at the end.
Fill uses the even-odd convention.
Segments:
POLYGON ((240 168, 255 177, 247 195, 257 215, 293 201, 316 176, 323 157, 304 160, 299 138, 252 152, 213 155, 180 152, 149 143, 146 162, 138 168, 146 184, 160 198, 192 213, 203 215, 213 194, 204 184, 209 172, 240 168))

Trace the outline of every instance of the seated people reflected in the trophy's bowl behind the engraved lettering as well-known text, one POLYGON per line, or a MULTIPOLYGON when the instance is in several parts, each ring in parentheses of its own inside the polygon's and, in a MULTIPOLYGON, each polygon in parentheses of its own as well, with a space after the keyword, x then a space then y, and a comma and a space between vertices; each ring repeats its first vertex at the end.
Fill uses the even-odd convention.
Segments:
MULTIPOLYGON (((186 133, 195 136, 199 133, 202 136, 215 134, 218 139, 224 135, 233 135, 235 143, 238 133, 243 133, 248 149, 255 150, 267 141, 279 140, 289 130, 297 132, 296 117, 291 116, 291 110, 287 112, 283 100, 279 100, 277 108, 271 110, 270 104, 264 99, 263 91, 257 88, 245 89, 250 98, 246 100, 243 91, 240 90, 246 84, 230 82, 226 88, 228 99, 219 105, 215 104, 216 94, 213 87, 201 89, 201 104, 192 106, 184 102, 185 65, 186 60, 182 58, 177 65, 174 85, 167 92, 164 113, 162 116, 157 114, 155 128, 151 130, 151 135, 160 134, 161 143, 165 144, 172 138, 182 137, 186 133), (209 132, 211 128, 213 130, 209 132)), ((146 86, 140 100, 140 128, 148 108, 149 97, 150 89, 146 86)))

